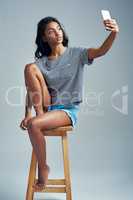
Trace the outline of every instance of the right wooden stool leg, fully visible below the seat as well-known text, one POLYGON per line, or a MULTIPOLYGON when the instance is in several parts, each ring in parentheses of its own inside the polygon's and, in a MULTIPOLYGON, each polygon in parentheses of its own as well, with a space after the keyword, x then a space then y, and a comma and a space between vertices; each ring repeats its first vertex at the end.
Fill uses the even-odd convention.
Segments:
POLYGON ((71 179, 70 179, 70 169, 69 169, 69 156, 68 156, 68 137, 67 137, 67 135, 62 136, 62 150, 63 150, 63 160, 64 160, 66 200, 72 200, 71 179))

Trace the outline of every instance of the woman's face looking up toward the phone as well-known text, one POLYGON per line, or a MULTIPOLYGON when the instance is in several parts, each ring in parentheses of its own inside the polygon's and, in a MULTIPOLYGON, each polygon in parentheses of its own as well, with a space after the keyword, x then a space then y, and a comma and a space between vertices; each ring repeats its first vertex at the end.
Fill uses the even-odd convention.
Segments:
POLYGON ((63 32, 60 25, 56 22, 50 22, 44 32, 44 41, 50 46, 59 45, 63 42, 63 32))

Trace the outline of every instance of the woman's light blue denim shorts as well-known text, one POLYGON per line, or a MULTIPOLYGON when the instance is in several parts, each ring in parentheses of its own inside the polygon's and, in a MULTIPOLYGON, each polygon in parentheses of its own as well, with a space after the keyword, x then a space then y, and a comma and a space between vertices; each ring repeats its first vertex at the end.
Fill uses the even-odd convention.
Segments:
POLYGON ((63 110, 65 111, 69 118, 71 119, 71 125, 73 127, 76 126, 77 118, 78 118, 78 111, 79 111, 79 104, 74 105, 50 105, 48 106, 48 111, 50 110, 63 110))

